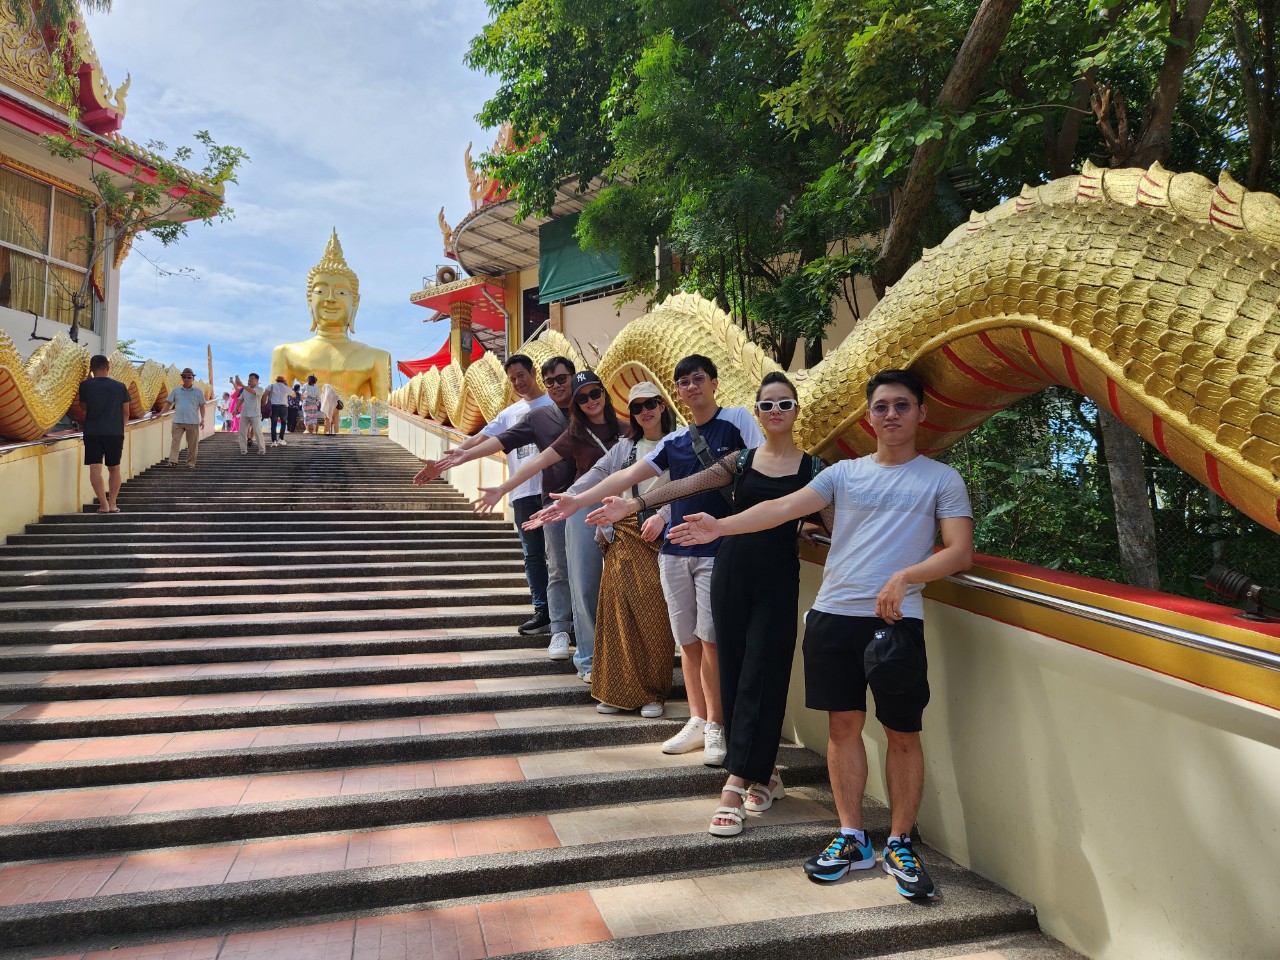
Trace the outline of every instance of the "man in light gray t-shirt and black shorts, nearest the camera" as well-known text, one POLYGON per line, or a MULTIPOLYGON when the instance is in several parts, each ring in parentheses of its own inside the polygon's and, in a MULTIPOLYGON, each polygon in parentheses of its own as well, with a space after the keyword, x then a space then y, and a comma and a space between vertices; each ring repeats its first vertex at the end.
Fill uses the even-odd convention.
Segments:
POLYGON ((869 685, 888 739, 884 778, 891 826, 884 872, 908 900, 925 900, 937 890, 911 847, 924 790, 920 726, 929 701, 920 591, 931 580, 973 564, 973 509, 960 475, 916 451, 916 433, 928 412, 919 378, 882 370, 867 385, 867 411, 876 433, 872 456, 837 463, 803 490, 723 520, 691 515, 668 538, 707 543, 835 507, 822 588, 805 617, 804 666, 805 705, 827 710, 827 769, 841 829, 804 869, 820 883, 876 865, 863 829, 861 735, 869 685), (942 549, 934 552, 938 532, 942 549), (873 641, 877 646, 896 641, 902 658, 892 672, 879 667, 867 676, 863 657, 873 641))

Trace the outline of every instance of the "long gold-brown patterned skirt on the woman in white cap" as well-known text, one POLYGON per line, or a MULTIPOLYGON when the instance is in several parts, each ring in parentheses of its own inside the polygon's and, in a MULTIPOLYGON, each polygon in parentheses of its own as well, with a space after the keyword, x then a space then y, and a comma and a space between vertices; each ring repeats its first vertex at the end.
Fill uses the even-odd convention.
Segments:
POLYGON ((671 695, 676 641, 658 581, 662 539, 648 543, 635 517, 613 527, 595 609, 591 696, 623 710, 664 703, 671 695))

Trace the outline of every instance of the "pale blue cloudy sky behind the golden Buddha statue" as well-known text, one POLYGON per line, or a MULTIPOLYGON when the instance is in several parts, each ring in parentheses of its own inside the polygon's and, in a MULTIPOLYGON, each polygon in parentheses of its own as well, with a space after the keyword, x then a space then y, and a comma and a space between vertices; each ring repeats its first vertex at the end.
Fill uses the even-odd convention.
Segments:
POLYGON ((311 335, 306 274, 337 227, 360 276, 356 339, 394 360, 433 351, 442 333, 408 297, 444 262, 436 211, 471 210, 467 142, 475 156, 493 142, 474 118, 495 83, 462 64, 485 20, 480 0, 115 0, 88 18, 108 78, 133 78, 124 136, 195 146, 207 129, 251 157, 228 187, 234 220, 134 244, 120 337, 201 374, 210 343, 219 384, 265 376, 271 347, 311 335))

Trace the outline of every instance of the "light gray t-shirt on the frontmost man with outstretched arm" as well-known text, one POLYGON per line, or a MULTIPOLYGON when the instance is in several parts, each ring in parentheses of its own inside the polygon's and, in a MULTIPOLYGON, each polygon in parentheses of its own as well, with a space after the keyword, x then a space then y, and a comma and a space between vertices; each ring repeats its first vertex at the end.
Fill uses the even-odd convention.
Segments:
MULTIPOLYGON (((972 517, 969 492, 952 467, 916 456, 896 467, 870 457, 844 460, 809 484, 836 508, 836 529, 815 611, 874 617, 876 596, 888 579, 933 553, 938 521, 972 517)), ((924 618, 922 584, 902 600, 902 616, 924 618)))

